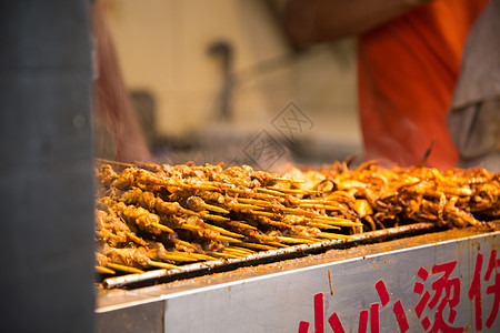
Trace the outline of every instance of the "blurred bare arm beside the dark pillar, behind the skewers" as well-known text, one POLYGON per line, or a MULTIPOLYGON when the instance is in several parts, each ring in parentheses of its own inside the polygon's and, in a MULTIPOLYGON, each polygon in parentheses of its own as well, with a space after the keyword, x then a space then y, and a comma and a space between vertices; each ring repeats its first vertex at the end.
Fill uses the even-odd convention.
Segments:
POLYGON ((91 1, 91 26, 96 44, 93 64, 97 75, 94 100, 100 121, 93 130, 96 154, 121 162, 148 162, 152 157, 124 85, 103 13, 102 1, 91 1))

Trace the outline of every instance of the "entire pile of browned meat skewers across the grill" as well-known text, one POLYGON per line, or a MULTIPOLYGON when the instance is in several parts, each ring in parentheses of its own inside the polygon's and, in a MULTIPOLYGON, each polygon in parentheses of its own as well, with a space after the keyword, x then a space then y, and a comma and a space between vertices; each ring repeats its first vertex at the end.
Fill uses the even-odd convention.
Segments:
POLYGON ((460 228, 500 216, 500 176, 481 169, 368 162, 349 170, 336 162, 278 175, 248 165, 117 172, 102 164, 97 176, 96 258, 106 274, 181 269, 421 221, 460 228))

